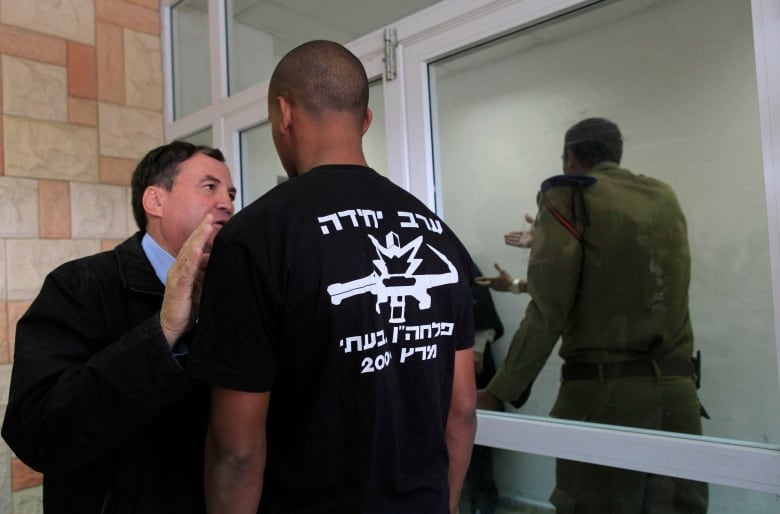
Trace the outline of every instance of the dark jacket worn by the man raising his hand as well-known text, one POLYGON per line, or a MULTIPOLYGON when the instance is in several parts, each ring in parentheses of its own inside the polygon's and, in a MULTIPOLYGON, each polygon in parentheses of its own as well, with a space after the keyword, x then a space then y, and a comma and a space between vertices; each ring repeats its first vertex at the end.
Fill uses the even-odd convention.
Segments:
POLYGON ((160 328, 138 233, 51 272, 16 329, 2 435, 53 513, 199 513, 205 391, 160 328))

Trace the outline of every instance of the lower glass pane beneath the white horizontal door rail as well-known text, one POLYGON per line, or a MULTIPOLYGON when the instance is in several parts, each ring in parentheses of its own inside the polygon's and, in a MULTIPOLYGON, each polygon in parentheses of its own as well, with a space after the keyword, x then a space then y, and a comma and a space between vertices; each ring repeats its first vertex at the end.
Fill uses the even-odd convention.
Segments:
MULTIPOLYGON (((472 457, 468 478, 464 484, 460 501, 460 514, 492 513, 492 514, 542 514, 555 512, 550 503, 550 495, 556 486, 555 469, 556 460, 538 455, 528 455, 499 450, 495 448, 475 447, 476 453, 472 457), (491 510, 491 507, 493 510, 491 510)), ((604 471, 603 466, 594 466, 592 470, 604 471)), ((614 473, 614 482, 631 477, 643 478, 648 475, 634 471, 618 470, 610 468, 614 473)), ((672 480, 670 477, 658 477, 649 475, 644 486, 638 486, 632 491, 636 492, 636 505, 647 505, 647 498, 653 484, 672 480)), ((675 480, 676 485, 697 486, 690 481, 675 480)), ((769 514, 778 512, 780 500, 774 494, 736 489, 733 487, 709 485, 709 509, 708 514, 732 514, 744 512, 750 514, 769 514)), ((607 490, 595 489, 600 496, 615 499, 617 491, 614 487, 607 490)), ((668 491, 668 489, 664 489, 668 491)), ((664 495, 658 496, 664 498, 664 495)), ((659 500, 655 503, 655 510, 643 510, 642 512, 694 512, 692 508, 686 510, 680 504, 672 505, 668 500, 659 500)), ((596 512, 596 511, 591 511, 596 512)), ((614 512, 608 508, 603 512, 614 512)), ((620 511, 623 512, 623 511, 620 511)), ((637 512, 639 509, 637 508, 637 512)))

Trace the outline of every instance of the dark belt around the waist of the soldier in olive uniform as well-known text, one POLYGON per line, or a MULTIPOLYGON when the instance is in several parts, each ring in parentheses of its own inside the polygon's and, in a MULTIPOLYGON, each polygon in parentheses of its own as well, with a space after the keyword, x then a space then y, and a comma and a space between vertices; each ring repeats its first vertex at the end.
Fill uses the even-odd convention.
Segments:
POLYGON ((690 359, 683 358, 599 364, 573 362, 561 367, 561 381, 610 380, 629 377, 692 377, 693 375, 693 364, 690 359))

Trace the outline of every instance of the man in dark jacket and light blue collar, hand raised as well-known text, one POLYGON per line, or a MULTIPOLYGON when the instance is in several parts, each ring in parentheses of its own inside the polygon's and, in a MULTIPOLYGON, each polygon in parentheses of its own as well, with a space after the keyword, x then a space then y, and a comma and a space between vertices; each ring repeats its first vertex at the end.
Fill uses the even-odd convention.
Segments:
POLYGON ((43 473, 47 514, 205 510, 207 396, 182 363, 234 196, 219 150, 152 150, 132 179, 140 231, 52 271, 19 321, 2 435, 43 473))

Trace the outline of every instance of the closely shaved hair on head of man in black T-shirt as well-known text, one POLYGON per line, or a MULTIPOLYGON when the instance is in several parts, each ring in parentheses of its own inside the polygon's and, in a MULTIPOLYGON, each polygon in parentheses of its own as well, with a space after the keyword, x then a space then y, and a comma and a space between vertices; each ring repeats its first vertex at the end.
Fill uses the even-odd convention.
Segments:
POLYGON ((283 96, 309 115, 350 113, 362 124, 368 108, 363 64, 332 41, 310 41, 291 50, 276 66, 268 98, 283 96))

